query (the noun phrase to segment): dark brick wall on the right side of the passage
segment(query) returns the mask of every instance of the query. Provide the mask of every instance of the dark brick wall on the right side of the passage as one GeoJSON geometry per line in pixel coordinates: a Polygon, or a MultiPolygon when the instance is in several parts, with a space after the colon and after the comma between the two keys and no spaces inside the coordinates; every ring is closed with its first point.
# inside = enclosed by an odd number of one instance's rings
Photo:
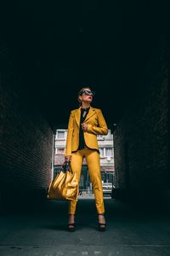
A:
{"type": "Polygon", "coordinates": [[[143,195],[170,189],[168,74],[167,48],[161,38],[137,81],[142,85],[139,96],[114,131],[119,189],[141,190],[143,195]]]}

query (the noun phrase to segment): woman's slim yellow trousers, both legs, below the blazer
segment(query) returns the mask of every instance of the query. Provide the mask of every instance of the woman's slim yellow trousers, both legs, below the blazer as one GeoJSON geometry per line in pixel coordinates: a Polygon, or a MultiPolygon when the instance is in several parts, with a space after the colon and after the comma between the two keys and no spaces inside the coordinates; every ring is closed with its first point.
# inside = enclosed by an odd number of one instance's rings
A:
{"type": "MultiPolygon", "coordinates": [[[[78,187],[80,183],[82,160],[86,158],[88,164],[88,172],[92,187],[94,190],[95,205],[98,213],[105,212],[103,189],[100,173],[99,153],[96,150],[83,148],[77,150],[77,152],[71,154],[71,169],[72,172],[77,173],[78,187]]],[[[78,193],[77,193],[78,195],[78,193]]],[[[77,207],[77,201],[69,201],[69,214],[75,214],[77,207]]]]}

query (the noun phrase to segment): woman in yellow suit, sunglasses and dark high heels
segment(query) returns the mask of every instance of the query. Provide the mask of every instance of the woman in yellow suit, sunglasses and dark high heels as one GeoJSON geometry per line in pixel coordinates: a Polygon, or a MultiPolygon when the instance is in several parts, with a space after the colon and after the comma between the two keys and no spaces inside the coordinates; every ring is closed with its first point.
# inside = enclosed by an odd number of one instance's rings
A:
{"type": "MultiPolygon", "coordinates": [[[[65,147],[65,161],[71,162],[72,172],[77,173],[80,182],[82,160],[88,164],[90,181],[94,190],[95,205],[99,215],[99,230],[105,230],[105,206],[103,199],[102,180],[99,163],[99,145],[97,135],[106,135],[108,128],[99,108],[90,106],[94,91],[89,87],[82,88],[78,93],[81,106],[71,111],[65,147]]],[[[69,201],[68,230],[75,230],[75,212],[77,201],[69,201]]]]}

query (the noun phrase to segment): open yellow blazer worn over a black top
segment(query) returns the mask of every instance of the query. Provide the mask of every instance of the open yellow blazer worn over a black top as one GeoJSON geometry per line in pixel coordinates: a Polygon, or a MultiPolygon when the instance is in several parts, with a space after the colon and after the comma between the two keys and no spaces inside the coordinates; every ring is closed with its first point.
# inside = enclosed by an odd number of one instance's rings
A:
{"type": "MultiPolygon", "coordinates": [[[[71,110],[68,132],[66,138],[65,155],[71,155],[72,151],[76,151],[79,145],[81,107],[71,110]]],[[[88,148],[99,150],[97,135],[106,135],[108,128],[104,116],[99,108],[90,106],[84,123],[88,124],[88,130],[84,131],[84,140],[88,148]]]]}

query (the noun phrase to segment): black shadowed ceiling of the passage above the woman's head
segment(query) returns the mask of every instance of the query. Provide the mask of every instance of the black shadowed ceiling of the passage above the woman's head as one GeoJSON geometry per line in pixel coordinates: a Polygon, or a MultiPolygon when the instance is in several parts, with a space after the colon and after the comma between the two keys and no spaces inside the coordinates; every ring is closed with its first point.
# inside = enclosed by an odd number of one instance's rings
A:
{"type": "Polygon", "coordinates": [[[93,106],[103,110],[108,123],[117,122],[142,90],[139,76],[161,35],[164,6],[150,1],[4,2],[1,38],[23,98],[36,102],[53,124],[65,124],[77,108],[77,91],[91,85],[93,106]]]}

